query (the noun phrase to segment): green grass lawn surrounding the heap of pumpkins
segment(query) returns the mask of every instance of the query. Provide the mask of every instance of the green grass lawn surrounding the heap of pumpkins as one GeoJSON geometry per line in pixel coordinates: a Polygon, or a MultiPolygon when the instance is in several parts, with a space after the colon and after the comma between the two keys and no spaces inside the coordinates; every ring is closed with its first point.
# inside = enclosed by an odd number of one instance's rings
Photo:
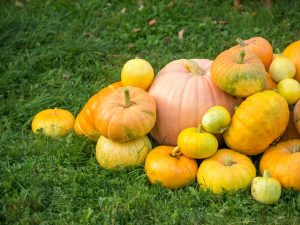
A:
{"type": "Polygon", "coordinates": [[[19,2],[0,2],[1,224],[300,224],[298,192],[265,206],[249,190],[213,195],[194,183],[170,191],[151,186],[142,166],[101,169],[83,137],[52,140],[30,127],[42,109],[76,115],[136,56],[157,72],[179,58],[213,59],[236,37],[263,36],[281,51],[300,39],[299,1],[270,10],[259,0],[239,9],[217,0],[19,2]]]}

